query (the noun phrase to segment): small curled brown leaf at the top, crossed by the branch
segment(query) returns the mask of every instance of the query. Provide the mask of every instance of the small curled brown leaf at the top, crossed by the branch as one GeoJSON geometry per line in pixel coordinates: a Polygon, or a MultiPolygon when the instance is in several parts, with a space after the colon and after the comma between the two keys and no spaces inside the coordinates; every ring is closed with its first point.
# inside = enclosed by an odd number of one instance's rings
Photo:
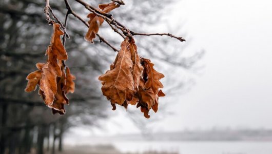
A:
{"type": "MultiPolygon", "coordinates": [[[[114,2],[112,2],[109,4],[101,4],[98,7],[100,11],[109,13],[111,10],[118,8],[119,6],[119,4],[115,4],[114,2]]],[[[94,13],[88,14],[87,17],[90,20],[88,21],[89,29],[85,35],[85,40],[93,43],[93,38],[95,38],[95,34],[98,33],[99,27],[104,22],[104,19],[102,17],[96,16],[94,13]]]]}

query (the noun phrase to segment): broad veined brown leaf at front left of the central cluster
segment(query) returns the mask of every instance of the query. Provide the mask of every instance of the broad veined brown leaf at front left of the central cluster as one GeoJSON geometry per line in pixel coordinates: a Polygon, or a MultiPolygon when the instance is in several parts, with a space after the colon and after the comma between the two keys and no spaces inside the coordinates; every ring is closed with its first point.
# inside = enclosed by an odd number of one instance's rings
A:
{"type": "Polygon", "coordinates": [[[99,76],[99,80],[103,84],[103,95],[110,100],[111,104],[123,105],[125,101],[130,101],[127,95],[133,95],[132,92],[134,91],[133,76],[131,74],[133,63],[129,51],[128,37],[122,42],[121,49],[116,56],[114,67],[99,76]]]}

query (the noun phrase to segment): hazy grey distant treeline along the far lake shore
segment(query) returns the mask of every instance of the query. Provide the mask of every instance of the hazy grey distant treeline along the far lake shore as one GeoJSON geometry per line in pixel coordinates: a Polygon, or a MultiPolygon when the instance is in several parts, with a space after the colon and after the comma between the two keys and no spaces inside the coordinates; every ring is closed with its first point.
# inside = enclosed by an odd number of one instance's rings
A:
{"type": "Polygon", "coordinates": [[[139,134],[126,134],[113,138],[118,140],[155,141],[272,141],[272,129],[186,130],[176,132],[156,132],[149,134],[148,138],[144,136],[139,137],[139,134]]]}

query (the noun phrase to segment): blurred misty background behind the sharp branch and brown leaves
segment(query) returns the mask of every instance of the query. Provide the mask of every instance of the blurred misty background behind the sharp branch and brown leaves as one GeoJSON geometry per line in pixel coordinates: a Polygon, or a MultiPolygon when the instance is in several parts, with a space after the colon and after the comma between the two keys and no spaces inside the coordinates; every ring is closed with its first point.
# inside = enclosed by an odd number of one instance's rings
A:
{"type": "MultiPolygon", "coordinates": [[[[89,13],[70,0],[86,21],[89,13]]],[[[86,1],[92,6],[110,1],[86,1]]],[[[45,62],[52,27],[43,0],[0,0],[0,153],[272,153],[272,1],[124,0],[114,18],[135,32],[138,52],[165,74],[166,97],[145,119],[130,105],[111,110],[98,76],[116,55],[69,16],[66,64],[76,76],[65,115],[52,115],[37,90],[24,92],[45,62]]],[[[63,1],[50,1],[64,22],[63,1]]],[[[122,37],[104,23],[116,48],[122,37]]]]}

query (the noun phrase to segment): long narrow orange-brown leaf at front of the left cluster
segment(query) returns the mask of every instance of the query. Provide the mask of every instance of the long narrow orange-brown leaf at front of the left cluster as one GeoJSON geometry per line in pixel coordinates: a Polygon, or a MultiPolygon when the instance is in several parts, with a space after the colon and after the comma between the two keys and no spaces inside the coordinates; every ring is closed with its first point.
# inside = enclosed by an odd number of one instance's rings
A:
{"type": "Polygon", "coordinates": [[[57,76],[61,77],[63,72],[58,64],[58,60],[67,60],[67,52],[62,44],[61,35],[63,31],[60,29],[59,24],[53,24],[54,33],[51,37],[51,44],[46,50],[48,54],[47,63],[42,69],[42,79],[40,81],[40,89],[45,95],[45,104],[47,106],[52,105],[54,101],[54,95],[57,91],[57,76]]]}

